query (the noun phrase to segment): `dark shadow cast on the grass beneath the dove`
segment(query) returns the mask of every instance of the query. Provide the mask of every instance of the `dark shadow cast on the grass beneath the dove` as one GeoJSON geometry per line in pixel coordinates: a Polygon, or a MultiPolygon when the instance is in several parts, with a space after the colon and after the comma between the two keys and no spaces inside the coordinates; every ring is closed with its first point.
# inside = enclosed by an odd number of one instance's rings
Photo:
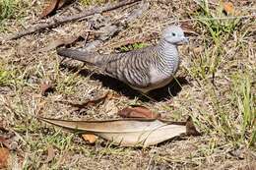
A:
{"type": "MultiPolygon", "coordinates": [[[[78,67],[69,66],[67,64],[62,63],[60,65],[62,68],[68,69],[70,72],[78,72],[78,67]]],[[[80,70],[79,74],[85,77],[90,76],[92,80],[98,80],[102,83],[103,86],[107,86],[112,90],[115,90],[119,93],[122,93],[123,95],[133,99],[135,97],[138,97],[142,101],[164,101],[166,99],[169,99],[172,96],[176,96],[178,92],[181,91],[182,85],[188,85],[189,83],[184,77],[178,77],[175,80],[171,81],[170,84],[165,85],[161,88],[154,89],[150,91],[147,94],[142,94],[141,92],[131,88],[129,85],[126,85],[114,78],[111,78],[109,76],[101,75],[101,74],[93,74],[89,70],[80,70]],[[147,96],[146,96],[147,95],[147,96]]]]}

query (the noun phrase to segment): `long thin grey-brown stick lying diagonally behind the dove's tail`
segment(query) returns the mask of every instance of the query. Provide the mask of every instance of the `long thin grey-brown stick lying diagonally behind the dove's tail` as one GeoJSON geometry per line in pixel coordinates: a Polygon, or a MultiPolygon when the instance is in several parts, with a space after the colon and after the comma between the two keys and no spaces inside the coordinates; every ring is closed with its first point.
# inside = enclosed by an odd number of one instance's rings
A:
{"type": "Polygon", "coordinates": [[[79,20],[79,19],[82,19],[82,18],[85,18],[85,17],[88,17],[88,16],[92,16],[92,15],[97,14],[97,13],[103,13],[103,12],[106,12],[106,11],[115,10],[115,9],[120,8],[122,6],[130,5],[130,4],[133,4],[135,2],[139,2],[139,1],[141,1],[141,0],[125,0],[125,1],[121,1],[119,3],[115,3],[115,4],[106,4],[102,7],[97,7],[97,8],[88,10],[86,12],[83,12],[83,13],[80,13],[80,14],[77,14],[77,15],[74,15],[74,16],[63,16],[63,17],[58,17],[58,18],[55,18],[55,19],[53,18],[53,20],[49,21],[48,23],[38,24],[38,25],[36,25],[32,28],[28,28],[24,31],[20,31],[20,32],[14,34],[14,35],[11,35],[10,37],[7,38],[7,40],[17,39],[17,38],[20,38],[24,35],[31,34],[35,31],[42,30],[44,28],[54,28],[54,27],[57,27],[57,26],[62,25],[64,23],[79,20]]]}

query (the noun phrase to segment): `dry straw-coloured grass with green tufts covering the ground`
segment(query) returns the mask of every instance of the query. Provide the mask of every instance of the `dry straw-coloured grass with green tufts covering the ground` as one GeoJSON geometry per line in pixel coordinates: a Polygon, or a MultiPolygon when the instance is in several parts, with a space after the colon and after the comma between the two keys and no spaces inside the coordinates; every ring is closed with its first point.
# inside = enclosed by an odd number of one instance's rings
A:
{"type": "MultiPolygon", "coordinates": [[[[6,9],[3,2],[7,0],[0,0],[0,8],[6,9]]],[[[8,15],[2,13],[0,37],[38,21],[43,2],[23,1],[26,5],[16,4],[8,9],[8,15]]],[[[237,15],[252,14],[255,3],[246,2],[234,2],[237,15]]],[[[81,74],[80,71],[87,68],[81,63],[65,61],[62,66],[54,50],[38,52],[60,36],[83,31],[87,22],[67,24],[1,44],[0,121],[16,134],[10,169],[15,166],[22,169],[256,167],[256,22],[255,18],[206,20],[224,17],[221,8],[218,3],[208,1],[201,4],[201,8],[195,1],[152,1],[151,8],[142,18],[99,48],[112,51],[113,44],[131,37],[156,37],[156,32],[160,32],[172,19],[198,19],[186,23],[198,35],[192,34],[189,45],[180,48],[182,64],[177,80],[185,76],[189,84],[179,84],[179,90],[174,91],[172,83],[168,97],[160,101],[142,100],[140,95],[127,96],[109,89],[91,75],[81,74]],[[41,96],[40,83],[45,80],[49,80],[55,90],[41,96]],[[106,90],[119,96],[79,111],[58,102],[84,101],[106,90]],[[76,135],[33,118],[41,115],[74,120],[110,119],[117,117],[118,109],[136,103],[160,112],[166,119],[185,120],[190,115],[204,135],[164,142],[146,149],[119,147],[101,140],[91,145],[76,135]],[[53,146],[55,156],[46,161],[49,145],[53,146]]],[[[126,10],[109,15],[118,18],[126,10]]],[[[152,40],[145,43],[157,41],[152,40]]]]}

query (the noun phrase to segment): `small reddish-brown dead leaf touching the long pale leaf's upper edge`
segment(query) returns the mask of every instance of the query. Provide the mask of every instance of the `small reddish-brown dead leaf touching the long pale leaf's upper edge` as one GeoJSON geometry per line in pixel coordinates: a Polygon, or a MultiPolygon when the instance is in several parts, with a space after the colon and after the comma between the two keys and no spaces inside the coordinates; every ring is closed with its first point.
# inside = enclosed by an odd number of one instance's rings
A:
{"type": "Polygon", "coordinates": [[[123,118],[160,118],[159,113],[154,113],[150,109],[144,106],[126,107],[117,113],[123,118]]]}

